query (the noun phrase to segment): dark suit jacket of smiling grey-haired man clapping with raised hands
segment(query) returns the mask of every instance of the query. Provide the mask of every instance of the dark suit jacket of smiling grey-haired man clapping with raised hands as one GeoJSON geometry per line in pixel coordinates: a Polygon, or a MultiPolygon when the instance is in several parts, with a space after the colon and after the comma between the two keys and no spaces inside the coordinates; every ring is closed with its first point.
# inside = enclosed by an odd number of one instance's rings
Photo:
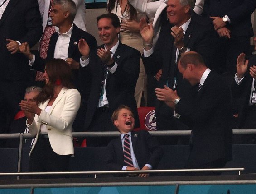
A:
{"type": "MultiPolygon", "coordinates": [[[[174,47],[174,38],[170,34],[170,29],[173,25],[169,23],[166,18],[166,9],[161,14],[161,30],[158,41],[155,45],[154,52],[149,57],[142,55],[142,60],[145,66],[147,74],[154,76],[159,69],[162,69],[161,79],[159,81],[159,88],[164,88],[167,80],[169,80],[169,87],[171,88],[174,83],[174,76],[177,79],[177,92],[179,97],[186,96],[186,92],[190,88],[190,84],[184,81],[182,75],[177,69],[175,64],[176,47],[174,47]]],[[[207,19],[193,14],[191,22],[188,25],[187,31],[184,35],[184,44],[191,51],[196,51],[203,56],[203,59],[209,67],[212,66],[213,55],[215,48],[213,48],[214,37],[213,24],[207,19]]],[[[166,115],[172,115],[172,110],[169,107],[165,107],[164,102],[159,102],[156,106],[156,116],[159,111],[166,112],[166,115]],[[169,111],[167,111],[169,110],[169,111]]],[[[167,117],[167,116],[166,116],[167,117]]],[[[171,128],[171,126],[169,127],[171,128]]]]}

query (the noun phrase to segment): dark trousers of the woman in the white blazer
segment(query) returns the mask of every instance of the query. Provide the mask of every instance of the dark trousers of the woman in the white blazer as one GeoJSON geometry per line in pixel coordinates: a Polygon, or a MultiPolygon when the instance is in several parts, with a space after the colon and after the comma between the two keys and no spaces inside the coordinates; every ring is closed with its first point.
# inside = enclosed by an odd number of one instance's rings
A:
{"type": "MultiPolygon", "coordinates": [[[[49,139],[39,138],[29,158],[29,172],[68,171],[70,156],[53,152],[49,139]]],[[[30,178],[68,178],[68,176],[49,175],[30,178]]]]}

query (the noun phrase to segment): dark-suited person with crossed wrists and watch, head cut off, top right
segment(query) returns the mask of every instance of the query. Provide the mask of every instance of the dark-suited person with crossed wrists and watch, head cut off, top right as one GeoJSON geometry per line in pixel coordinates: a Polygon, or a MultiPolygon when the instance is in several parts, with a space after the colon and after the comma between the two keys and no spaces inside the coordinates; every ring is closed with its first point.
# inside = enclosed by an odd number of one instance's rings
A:
{"type": "Polygon", "coordinates": [[[213,19],[214,29],[219,35],[219,68],[229,72],[231,77],[236,72],[237,56],[250,53],[250,37],[253,36],[251,14],[256,7],[255,0],[205,0],[203,15],[213,19]]]}

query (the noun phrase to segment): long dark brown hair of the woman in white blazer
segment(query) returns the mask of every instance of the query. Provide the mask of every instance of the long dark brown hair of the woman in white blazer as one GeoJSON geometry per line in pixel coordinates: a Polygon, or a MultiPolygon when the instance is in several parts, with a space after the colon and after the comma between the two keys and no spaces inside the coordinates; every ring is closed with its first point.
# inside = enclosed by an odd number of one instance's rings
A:
{"type": "Polygon", "coordinates": [[[45,71],[48,74],[49,82],[43,88],[43,92],[39,93],[36,97],[35,100],[37,102],[45,102],[47,99],[53,97],[57,80],[59,80],[65,88],[74,88],[72,84],[72,69],[65,60],[48,60],[45,65],[45,71]]]}

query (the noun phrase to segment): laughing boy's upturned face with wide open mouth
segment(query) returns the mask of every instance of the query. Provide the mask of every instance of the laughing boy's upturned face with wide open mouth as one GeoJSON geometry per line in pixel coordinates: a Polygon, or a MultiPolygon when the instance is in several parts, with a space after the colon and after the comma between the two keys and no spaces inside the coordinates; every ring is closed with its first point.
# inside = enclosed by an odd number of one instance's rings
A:
{"type": "Polygon", "coordinates": [[[127,134],[134,128],[135,120],[131,111],[123,108],[119,111],[117,120],[114,120],[114,125],[121,134],[127,134]]]}

